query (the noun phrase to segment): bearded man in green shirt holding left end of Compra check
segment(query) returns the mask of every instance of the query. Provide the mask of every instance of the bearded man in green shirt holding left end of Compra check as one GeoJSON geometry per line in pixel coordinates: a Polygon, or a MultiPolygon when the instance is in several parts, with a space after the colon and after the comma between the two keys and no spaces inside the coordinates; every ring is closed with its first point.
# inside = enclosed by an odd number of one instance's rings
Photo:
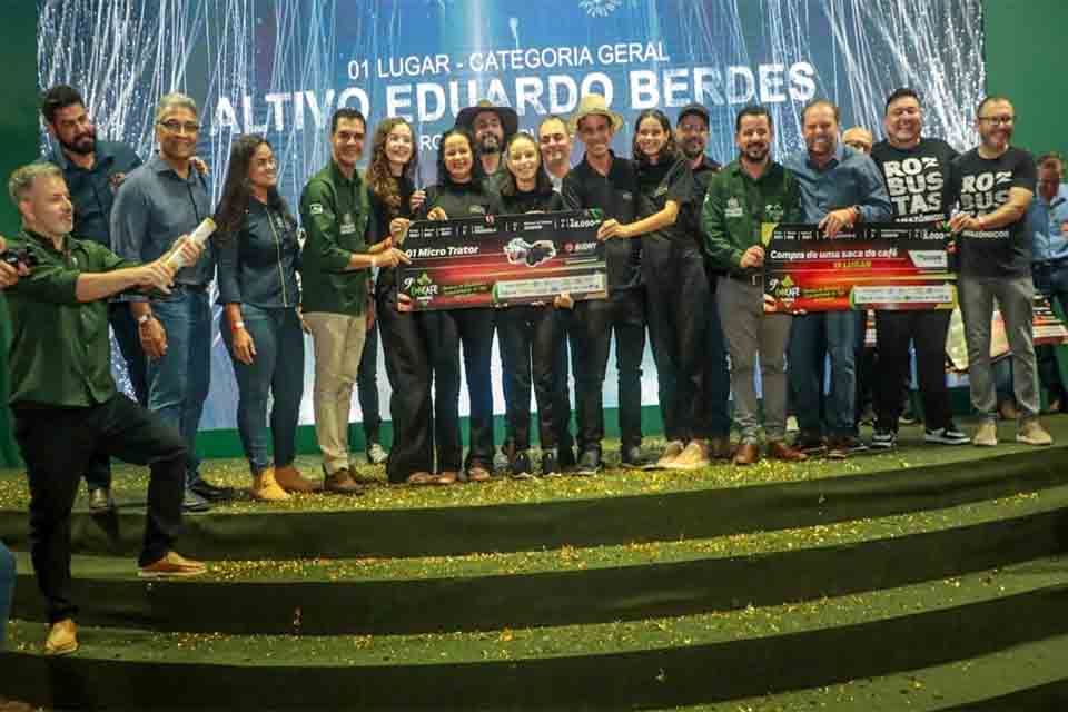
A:
{"type": "Polygon", "coordinates": [[[789,314],[764,314],[764,248],[761,222],[798,222],[798,181],[771,160],[771,115],[763,107],[742,109],[734,126],[738,160],[716,174],[705,195],[702,226],[708,253],[726,270],[719,277],[716,306],[731,355],[734,418],[741,441],[734,464],[760,459],[753,369],[760,352],[764,436],[768,455],[797,462],[805,456],[785,443],[785,353],[793,320],[789,314]]]}

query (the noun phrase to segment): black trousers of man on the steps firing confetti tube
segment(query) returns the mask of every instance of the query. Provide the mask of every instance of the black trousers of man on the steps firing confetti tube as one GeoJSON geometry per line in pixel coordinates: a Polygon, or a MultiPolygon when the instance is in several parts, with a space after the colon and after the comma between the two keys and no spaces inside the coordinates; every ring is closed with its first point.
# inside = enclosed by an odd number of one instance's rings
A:
{"type": "Polygon", "coordinates": [[[138,563],[158,561],[181,525],[186,445],[176,429],[125,395],[87,408],[17,407],[14,437],[30,483],[30,556],[55,623],[78,612],[70,597],[70,512],[97,456],[148,465],[148,516],[138,563]]]}

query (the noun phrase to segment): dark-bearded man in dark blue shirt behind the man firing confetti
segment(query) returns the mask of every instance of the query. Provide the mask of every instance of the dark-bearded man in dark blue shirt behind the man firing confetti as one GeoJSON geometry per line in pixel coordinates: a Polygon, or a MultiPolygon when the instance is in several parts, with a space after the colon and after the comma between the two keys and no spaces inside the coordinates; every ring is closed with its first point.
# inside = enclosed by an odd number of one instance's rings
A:
{"type": "MultiPolygon", "coordinates": [[[[141,165],[141,159],[126,144],[97,140],[97,127],[86,111],[81,95],[73,87],[57,85],[41,98],[41,116],[59,150],[48,160],[59,166],[75,206],[75,234],[82,239],[111,245],[111,205],[127,174],[141,165]]],[[[119,344],[126,372],[137,402],[148,403],[145,385],[145,353],[137,338],[137,323],[129,307],[121,301],[108,306],[108,323],[119,344]]],[[[98,456],[86,469],[89,508],[107,512],[115,506],[111,498],[111,464],[98,456]]]]}

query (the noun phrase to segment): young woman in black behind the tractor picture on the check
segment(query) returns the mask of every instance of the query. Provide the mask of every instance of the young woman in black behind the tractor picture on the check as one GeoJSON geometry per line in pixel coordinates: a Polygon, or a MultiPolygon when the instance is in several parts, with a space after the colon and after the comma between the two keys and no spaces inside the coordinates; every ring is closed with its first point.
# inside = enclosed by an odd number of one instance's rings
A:
{"type": "MultiPolygon", "coordinates": [[[[515,134],[504,151],[507,176],[501,184],[506,215],[551,212],[564,209],[564,201],[542,170],[537,141],[530,134],[515,134]]],[[[557,304],[562,300],[557,297],[557,304]]],[[[563,299],[570,304],[568,299],[563,299]]],[[[527,449],[531,447],[531,383],[537,400],[537,433],[542,448],[542,475],[557,474],[556,414],[554,404],[554,363],[563,332],[552,305],[515,306],[497,313],[497,336],[504,367],[508,436],[515,455],[508,463],[513,476],[533,474],[527,449]]]]}

